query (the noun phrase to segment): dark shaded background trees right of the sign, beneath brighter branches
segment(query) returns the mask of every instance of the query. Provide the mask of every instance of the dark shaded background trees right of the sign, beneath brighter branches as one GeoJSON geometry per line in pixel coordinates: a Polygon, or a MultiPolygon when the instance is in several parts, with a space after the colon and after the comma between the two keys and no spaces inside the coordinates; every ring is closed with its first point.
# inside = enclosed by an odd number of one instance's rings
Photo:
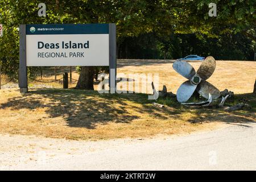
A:
{"type": "Polygon", "coordinates": [[[126,38],[118,52],[121,59],[179,59],[195,54],[211,55],[218,60],[253,60],[254,43],[241,33],[218,38],[195,34],[143,34],[138,38],[126,38]]]}

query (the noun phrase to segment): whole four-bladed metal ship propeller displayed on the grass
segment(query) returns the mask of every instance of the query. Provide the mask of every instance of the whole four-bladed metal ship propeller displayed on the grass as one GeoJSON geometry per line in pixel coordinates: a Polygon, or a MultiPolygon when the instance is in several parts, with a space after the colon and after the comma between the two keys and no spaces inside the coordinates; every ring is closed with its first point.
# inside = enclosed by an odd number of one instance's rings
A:
{"type": "Polygon", "coordinates": [[[186,61],[175,61],[172,67],[177,73],[188,79],[177,90],[177,101],[180,103],[187,102],[195,91],[207,99],[209,99],[209,96],[213,100],[220,97],[220,90],[206,81],[212,76],[216,68],[216,61],[212,56],[207,57],[203,61],[197,72],[186,61]]]}

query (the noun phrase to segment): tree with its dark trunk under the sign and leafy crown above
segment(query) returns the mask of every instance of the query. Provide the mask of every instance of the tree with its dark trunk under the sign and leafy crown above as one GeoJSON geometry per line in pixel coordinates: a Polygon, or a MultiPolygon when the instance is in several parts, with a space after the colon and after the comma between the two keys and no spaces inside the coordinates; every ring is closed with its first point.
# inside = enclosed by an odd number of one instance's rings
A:
{"type": "MultiPolygon", "coordinates": [[[[161,27],[161,21],[166,19],[164,14],[165,1],[88,1],[85,10],[90,12],[86,16],[88,23],[117,24],[117,52],[119,46],[129,36],[138,36],[145,32],[152,32],[161,27]]],[[[82,7],[81,7],[82,8],[82,7]]],[[[171,22],[171,18],[168,20],[171,22]]],[[[163,30],[163,29],[162,29],[163,30]]],[[[127,45],[127,44],[126,44],[127,45]]],[[[91,68],[81,68],[77,89],[93,89],[91,68]],[[86,79],[85,79],[86,77],[86,79]]]]}

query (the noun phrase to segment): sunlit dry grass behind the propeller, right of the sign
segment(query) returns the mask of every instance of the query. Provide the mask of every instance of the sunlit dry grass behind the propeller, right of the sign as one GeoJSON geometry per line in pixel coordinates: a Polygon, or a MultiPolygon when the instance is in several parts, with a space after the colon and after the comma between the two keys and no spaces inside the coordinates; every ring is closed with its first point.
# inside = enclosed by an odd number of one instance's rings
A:
{"type": "MultiPolygon", "coordinates": [[[[140,60],[138,60],[140,61],[140,60]]],[[[172,69],[173,60],[151,60],[131,62],[130,60],[119,61],[118,73],[158,73],[159,89],[163,85],[168,91],[176,93],[179,86],[186,78],[172,69]],[[137,64],[137,65],[136,65],[137,64]],[[128,66],[123,66],[128,65],[128,66]]],[[[197,70],[201,62],[190,62],[197,70]]],[[[220,90],[232,90],[236,94],[252,93],[256,78],[256,61],[217,61],[216,70],[208,81],[220,90]]],[[[148,88],[151,88],[149,83],[148,88]]],[[[151,92],[151,89],[148,90],[151,92]]]]}

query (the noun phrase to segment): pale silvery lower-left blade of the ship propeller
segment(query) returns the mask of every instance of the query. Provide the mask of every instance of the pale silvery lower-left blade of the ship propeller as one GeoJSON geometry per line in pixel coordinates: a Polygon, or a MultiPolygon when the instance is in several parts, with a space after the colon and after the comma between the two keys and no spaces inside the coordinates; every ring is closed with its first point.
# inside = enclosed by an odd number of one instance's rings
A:
{"type": "Polygon", "coordinates": [[[179,101],[180,103],[187,102],[192,94],[195,92],[196,86],[197,85],[191,84],[189,80],[181,84],[176,94],[177,101],[179,101]]]}

